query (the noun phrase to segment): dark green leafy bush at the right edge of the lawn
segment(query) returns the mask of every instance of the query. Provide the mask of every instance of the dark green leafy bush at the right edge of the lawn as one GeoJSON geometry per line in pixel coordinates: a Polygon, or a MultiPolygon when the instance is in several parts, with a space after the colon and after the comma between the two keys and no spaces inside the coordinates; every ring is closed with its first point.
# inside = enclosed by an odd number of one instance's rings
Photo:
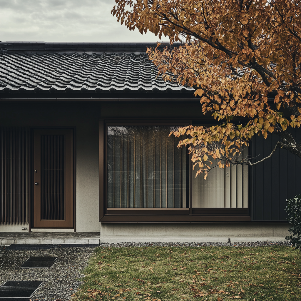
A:
{"type": "Polygon", "coordinates": [[[287,200],[285,210],[290,223],[288,231],[293,234],[285,237],[285,239],[290,240],[293,247],[301,249],[301,194],[296,195],[291,200],[287,200]]]}

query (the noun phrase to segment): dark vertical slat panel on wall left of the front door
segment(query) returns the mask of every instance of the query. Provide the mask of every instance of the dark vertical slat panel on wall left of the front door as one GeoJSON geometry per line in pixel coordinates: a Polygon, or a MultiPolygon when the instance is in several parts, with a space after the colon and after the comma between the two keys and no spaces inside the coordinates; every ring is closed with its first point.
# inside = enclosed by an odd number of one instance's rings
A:
{"type": "Polygon", "coordinates": [[[29,215],[29,129],[0,128],[0,217],[24,224],[29,215]]]}

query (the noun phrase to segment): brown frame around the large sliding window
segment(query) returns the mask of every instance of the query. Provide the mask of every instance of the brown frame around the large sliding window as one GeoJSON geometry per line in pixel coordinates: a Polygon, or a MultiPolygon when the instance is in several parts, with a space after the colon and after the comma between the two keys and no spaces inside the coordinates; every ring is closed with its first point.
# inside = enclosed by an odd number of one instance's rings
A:
{"type": "Polygon", "coordinates": [[[99,221],[100,222],[247,222],[249,208],[192,208],[192,162],[189,165],[189,208],[107,209],[107,126],[188,126],[189,119],[99,120],[99,221]]]}

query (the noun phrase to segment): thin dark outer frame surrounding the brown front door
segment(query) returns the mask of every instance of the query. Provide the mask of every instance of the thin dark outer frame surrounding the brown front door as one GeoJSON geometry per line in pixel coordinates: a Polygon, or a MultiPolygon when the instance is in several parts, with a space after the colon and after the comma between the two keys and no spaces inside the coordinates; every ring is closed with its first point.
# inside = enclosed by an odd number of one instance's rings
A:
{"type": "MultiPolygon", "coordinates": [[[[30,172],[29,172],[29,177],[30,177],[30,184],[29,184],[29,228],[28,231],[31,232],[31,229],[74,229],[74,232],[76,232],[76,126],[32,126],[30,127],[30,158],[29,158],[29,166],[30,166],[30,172]],[[71,204],[73,206],[73,227],[65,227],[65,228],[56,228],[56,227],[33,227],[33,188],[34,188],[34,170],[33,170],[33,149],[34,149],[34,130],[36,129],[71,129],[73,130],[73,145],[72,151],[73,151],[73,162],[71,163],[73,166],[73,199],[71,200],[71,204]]],[[[55,230],[54,230],[55,232],[55,230]]]]}

